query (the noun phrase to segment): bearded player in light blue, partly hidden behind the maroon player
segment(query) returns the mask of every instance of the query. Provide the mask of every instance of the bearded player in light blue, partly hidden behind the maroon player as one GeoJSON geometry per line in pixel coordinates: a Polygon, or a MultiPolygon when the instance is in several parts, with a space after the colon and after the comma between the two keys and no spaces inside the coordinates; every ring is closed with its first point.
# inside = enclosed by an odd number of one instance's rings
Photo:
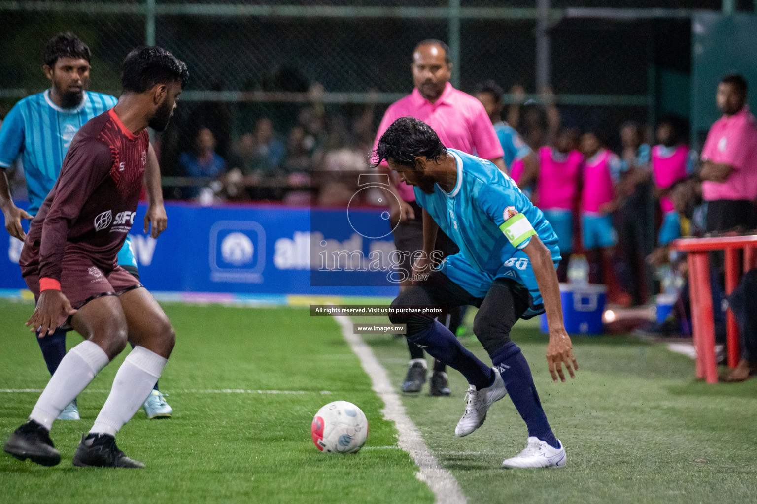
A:
{"type": "MultiPolygon", "coordinates": [[[[18,240],[26,239],[21,220],[36,215],[58,180],[63,159],[76,132],[89,119],[110,110],[117,103],[117,99],[108,94],[87,91],[90,54],[89,47],[70,32],[53,37],[42,51],[43,70],[50,79],[50,88],[19,100],[0,127],[0,208],[5,215],[5,228],[18,240]],[[17,159],[20,159],[26,175],[28,211],[14,205],[5,174],[5,169],[11,168],[17,159]]],[[[160,168],[152,149],[145,173],[151,174],[146,177],[149,178],[147,188],[151,205],[145,219],[145,232],[148,221],[151,221],[151,235],[155,238],[165,229],[167,218],[160,189],[160,168]]],[[[139,278],[130,239],[119,252],[118,264],[139,278]]],[[[52,335],[37,338],[37,341],[48,371],[55,373],[66,354],[66,333],[58,329],[52,335]]],[[[167,418],[172,413],[163,394],[158,391],[157,383],[144,406],[149,418],[167,418]]],[[[76,400],[59,418],[79,419],[76,400]]]]}

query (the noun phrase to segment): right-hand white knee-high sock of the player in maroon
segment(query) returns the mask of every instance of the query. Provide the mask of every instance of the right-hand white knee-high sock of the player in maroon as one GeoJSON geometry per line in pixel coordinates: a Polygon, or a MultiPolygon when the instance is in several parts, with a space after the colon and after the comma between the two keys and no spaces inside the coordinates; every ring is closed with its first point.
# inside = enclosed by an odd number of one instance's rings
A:
{"type": "Polygon", "coordinates": [[[152,388],[163,372],[167,359],[145,347],[134,349],[123,360],[116,378],[113,380],[111,394],[107,396],[91,434],[116,435],[123,424],[129,422],[142,403],[145,402],[152,388]]]}

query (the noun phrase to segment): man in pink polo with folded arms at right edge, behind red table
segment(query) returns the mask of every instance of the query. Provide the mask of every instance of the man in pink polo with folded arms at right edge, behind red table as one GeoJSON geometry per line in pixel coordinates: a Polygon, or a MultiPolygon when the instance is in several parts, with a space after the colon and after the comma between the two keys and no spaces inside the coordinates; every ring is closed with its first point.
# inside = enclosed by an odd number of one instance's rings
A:
{"type": "Polygon", "coordinates": [[[727,76],[718,84],[718,109],[702,149],[702,197],[707,231],[757,227],[757,125],[746,105],[746,80],[727,76]]]}

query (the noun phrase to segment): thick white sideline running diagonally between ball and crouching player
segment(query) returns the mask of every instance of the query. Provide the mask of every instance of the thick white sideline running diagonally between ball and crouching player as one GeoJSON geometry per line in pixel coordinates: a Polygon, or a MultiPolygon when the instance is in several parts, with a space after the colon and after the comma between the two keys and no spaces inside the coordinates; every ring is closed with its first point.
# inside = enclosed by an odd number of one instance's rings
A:
{"type": "Polygon", "coordinates": [[[341,333],[344,335],[344,339],[350,344],[352,351],[360,359],[363,369],[370,376],[373,391],[384,401],[386,405],[384,410],[382,410],[384,418],[397,425],[397,431],[400,433],[397,444],[409,453],[410,457],[418,465],[418,479],[428,484],[428,487],[434,492],[438,504],[468,502],[455,477],[447,469],[439,465],[439,461],[423,442],[418,428],[405,414],[405,407],[403,407],[400,401],[400,396],[397,395],[397,392],[391,386],[386,369],[378,363],[378,359],[376,359],[373,351],[363,342],[360,335],[352,333],[353,326],[350,317],[334,318],[339,326],[341,326],[341,333]]]}

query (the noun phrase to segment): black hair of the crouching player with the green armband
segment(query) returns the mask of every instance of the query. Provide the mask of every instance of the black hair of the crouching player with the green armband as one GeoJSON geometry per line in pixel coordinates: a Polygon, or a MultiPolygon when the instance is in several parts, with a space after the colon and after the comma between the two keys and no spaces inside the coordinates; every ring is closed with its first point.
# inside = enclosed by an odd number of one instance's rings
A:
{"type": "Polygon", "coordinates": [[[397,165],[416,165],[416,157],[425,156],[429,161],[437,161],[447,154],[447,147],[439,140],[431,126],[415,117],[400,117],[391,123],[378,140],[373,152],[374,166],[384,159],[391,159],[397,165]]]}

